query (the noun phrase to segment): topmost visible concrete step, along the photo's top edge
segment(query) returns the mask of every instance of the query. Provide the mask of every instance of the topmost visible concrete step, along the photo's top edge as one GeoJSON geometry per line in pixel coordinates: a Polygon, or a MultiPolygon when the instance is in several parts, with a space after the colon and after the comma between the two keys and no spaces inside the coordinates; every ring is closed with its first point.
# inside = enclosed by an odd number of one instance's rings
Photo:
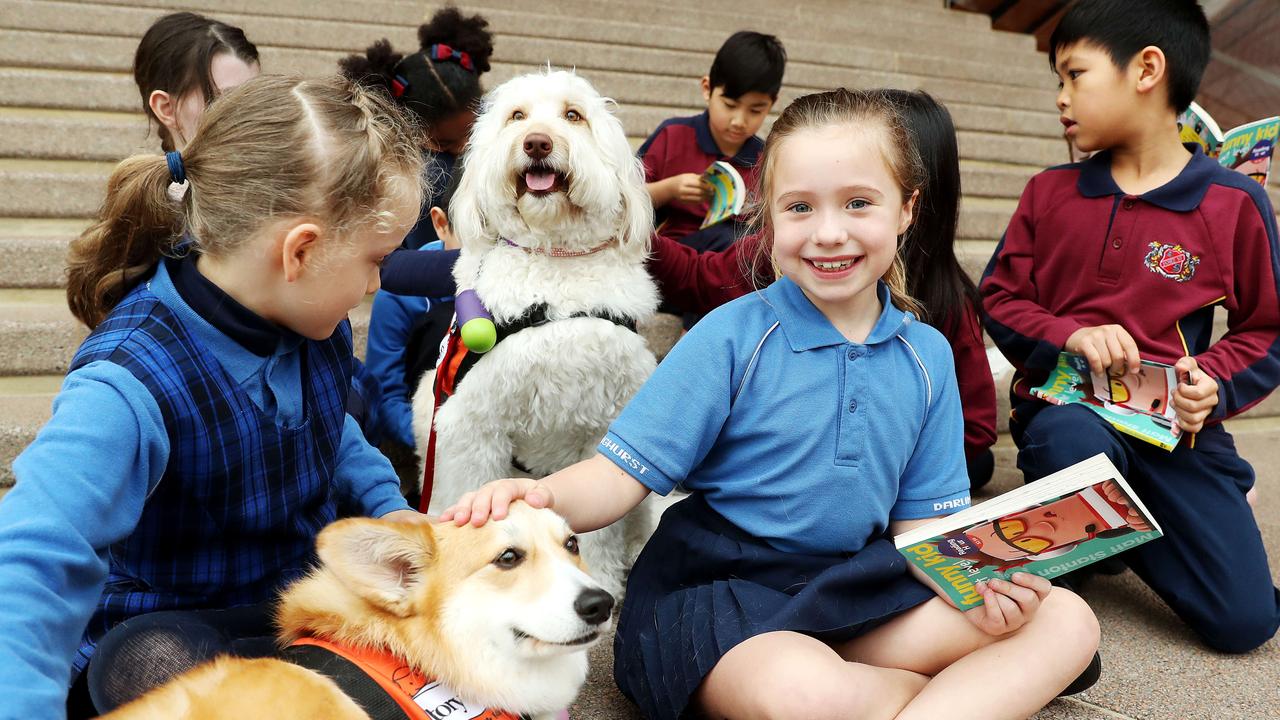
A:
{"type": "MultiPolygon", "coordinates": [[[[118,5],[81,4],[42,0],[6,0],[20,6],[20,15],[4,23],[20,29],[59,28],[67,32],[90,35],[120,35],[138,37],[146,27],[170,8],[120,8],[118,5]],[[73,5],[74,10],[68,10],[73,5]],[[68,19],[67,15],[74,14],[68,19]]],[[[134,5],[134,4],[129,4],[134,5]]],[[[151,4],[145,4],[151,5],[151,4]]],[[[325,47],[349,49],[352,38],[369,37],[375,40],[385,36],[397,46],[415,44],[412,23],[376,22],[374,18],[425,17],[419,13],[434,12],[434,8],[415,6],[410,15],[402,12],[380,14],[366,5],[360,8],[339,6],[335,17],[316,18],[314,8],[300,8],[291,12],[279,4],[270,9],[257,5],[247,12],[216,12],[210,5],[201,4],[201,12],[214,13],[219,19],[242,27],[248,37],[261,46],[325,47]],[[297,22],[294,12],[303,13],[306,20],[297,22]]],[[[488,4],[485,4],[488,5],[488,4]]],[[[675,4],[600,4],[582,0],[556,3],[554,8],[539,8],[530,12],[527,4],[512,3],[506,8],[466,8],[480,12],[497,32],[499,53],[506,36],[554,37],[562,40],[591,38],[599,42],[643,45],[671,50],[698,50],[714,53],[727,35],[709,32],[710,28],[740,27],[742,14],[708,12],[699,8],[689,12],[675,4]],[[602,10],[604,12],[602,14],[602,10]],[[662,33],[649,29],[649,19],[660,15],[666,27],[662,33]],[[659,37],[660,36],[660,37],[659,37]]],[[[797,61],[815,61],[822,58],[820,45],[854,46],[870,51],[901,53],[904,47],[927,56],[964,58],[964,61],[978,59],[1015,68],[1014,76],[1004,82],[1016,82],[1039,86],[1044,82],[1041,68],[1028,67],[1028,58],[1034,56],[1034,44],[1028,38],[1001,32],[982,32],[977,27],[956,27],[956,18],[948,13],[913,13],[902,6],[863,5],[856,13],[832,12],[831,8],[794,8],[791,12],[753,12],[750,17],[758,27],[783,28],[778,32],[787,45],[788,55],[797,61]],[[855,15],[856,17],[852,17],[855,15]],[[879,15],[879,17],[877,17],[879,15]],[[922,23],[913,15],[933,18],[934,23],[922,23]],[[963,40],[957,40],[963,38],[963,40]]],[[[966,24],[972,20],[966,20],[966,24]]],[[[357,40],[360,42],[360,40],[357,40]]],[[[364,41],[367,44],[369,41],[364,41]]],[[[705,73],[705,68],[703,70],[705,73]]],[[[950,73],[948,73],[950,74],[950,73]]]]}

